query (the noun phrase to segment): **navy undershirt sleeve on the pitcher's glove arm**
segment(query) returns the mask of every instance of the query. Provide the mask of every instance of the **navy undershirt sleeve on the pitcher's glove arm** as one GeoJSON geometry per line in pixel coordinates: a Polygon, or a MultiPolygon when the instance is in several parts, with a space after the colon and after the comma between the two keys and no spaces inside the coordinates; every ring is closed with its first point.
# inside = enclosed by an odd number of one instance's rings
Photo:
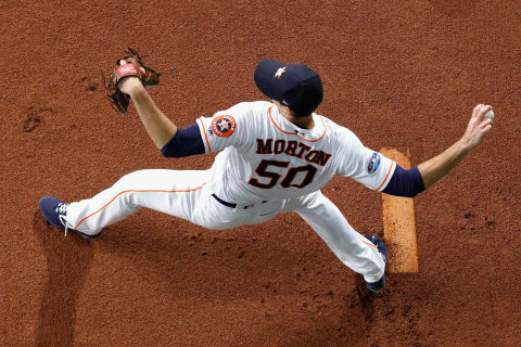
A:
{"type": "Polygon", "coordinates": [[[176,134],[161,149],[166,157],[180,158],[195,154],[204,154],[203,138],[199,131],[199,126],[192,124],[185,129],[177,129],[176,134]]]}

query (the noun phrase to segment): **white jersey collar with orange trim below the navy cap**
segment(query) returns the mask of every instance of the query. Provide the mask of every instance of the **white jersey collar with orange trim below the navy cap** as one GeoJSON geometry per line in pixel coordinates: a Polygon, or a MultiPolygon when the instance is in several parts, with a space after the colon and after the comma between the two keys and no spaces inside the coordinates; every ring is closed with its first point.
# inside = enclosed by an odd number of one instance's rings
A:
{"type": "Polygon", "coordinates": [[[289,136],[294,136],[306,142],[320,141],[326,136],[327,131],[323,118],[316,113],[313,114],[313,120],[315,121],[315,126],[313,127],[313,129],[302,129],[295,126],[294,124],[285,119],[275,105],[269,107],[269,119],[280,132],[289,136]]]}

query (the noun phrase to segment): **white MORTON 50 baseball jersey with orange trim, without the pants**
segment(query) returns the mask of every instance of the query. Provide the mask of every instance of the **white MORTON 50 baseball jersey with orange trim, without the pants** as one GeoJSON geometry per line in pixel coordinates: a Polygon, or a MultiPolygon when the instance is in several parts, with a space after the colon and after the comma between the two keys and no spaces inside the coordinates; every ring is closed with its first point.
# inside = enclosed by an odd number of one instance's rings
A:
{"type": "Polygon", "coordinates": [[[320,190],[336,175],[385,189],[395,169],[391,159],[332,120],[313,118],[313,129],[298,128],[264,101],[199,118],[206,153],[223,151],[208,182],[215,194],[233,203],[292,198],[320,190]]]}

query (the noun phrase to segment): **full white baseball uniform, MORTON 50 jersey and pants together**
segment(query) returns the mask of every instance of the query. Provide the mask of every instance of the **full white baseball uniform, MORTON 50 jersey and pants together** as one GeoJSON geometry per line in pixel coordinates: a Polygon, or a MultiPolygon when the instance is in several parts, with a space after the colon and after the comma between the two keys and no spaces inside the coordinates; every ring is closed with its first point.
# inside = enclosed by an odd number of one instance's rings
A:
{"type": "Polygon", "coordinates": [[[323,116],[313,117],[314,128],[301,129],[276,105],[262,101],[201,117],[206,153],[221,151],[209,170],[128,174],[93,197],[71,203],[66,220],[75,230],[97,234],[148,207],[224,230],[295,211],[343,264],[367,282],[377,282],[385,270],[377,247],[350,226],[320,189],[342,175],[381,191],[396,165],[365,147],[348,129],[323,116]]]}

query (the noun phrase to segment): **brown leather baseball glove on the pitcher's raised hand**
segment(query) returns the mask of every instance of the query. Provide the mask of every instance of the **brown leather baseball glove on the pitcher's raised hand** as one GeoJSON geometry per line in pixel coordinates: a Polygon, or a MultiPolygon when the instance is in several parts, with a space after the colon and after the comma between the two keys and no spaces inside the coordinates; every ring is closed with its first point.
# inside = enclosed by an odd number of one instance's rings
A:
{"type": "Polygon", "coordinates": [[[101,72],[103,86],[107,90],[107,98],[115,111],[127,114],[130,95],[123,93],[117,87],[119,82],[130,76],[136,76],[141,80],[144,87],[153,87],[160,83],[161,74],[147,65],[139,56],[138,51],[128,48],[126,55],[116,61],[117,67],[112,73],[110,79],[105,78],[105,74],[101,72]],[[125,60],[127,64],[119,65],[120,60],[125,60]]]}

